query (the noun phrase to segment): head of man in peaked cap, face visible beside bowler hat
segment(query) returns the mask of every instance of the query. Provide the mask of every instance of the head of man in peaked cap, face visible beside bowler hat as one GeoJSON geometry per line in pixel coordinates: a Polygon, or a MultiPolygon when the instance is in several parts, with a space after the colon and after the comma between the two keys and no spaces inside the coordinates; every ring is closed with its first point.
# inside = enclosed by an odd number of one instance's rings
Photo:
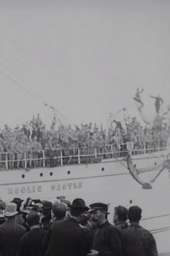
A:
{"type": "Polygon", "coordinates": [[[108,205],[103,203],[90,204],[89,214],[91,221],[97,225],[102,224],[108,215],[108,205]]]}

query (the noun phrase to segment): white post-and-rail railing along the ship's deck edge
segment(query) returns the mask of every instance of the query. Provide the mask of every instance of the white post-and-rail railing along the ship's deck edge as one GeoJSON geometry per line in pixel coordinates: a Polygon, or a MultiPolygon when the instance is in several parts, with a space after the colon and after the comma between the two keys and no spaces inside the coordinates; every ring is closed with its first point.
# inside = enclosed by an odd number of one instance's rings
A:
{"type": "MultiPolygon", "coordinates": [[[[152,153],[166,149],[165,142],[134,145],[132,155],[152,153]]],[[[103,159],[125,157],[127,145],[102,145],[82,148],[58,148],[55,150],[28,151],[0,154],[0,170],[57,167],[71,164],[99,163],[103,159]]]]}

